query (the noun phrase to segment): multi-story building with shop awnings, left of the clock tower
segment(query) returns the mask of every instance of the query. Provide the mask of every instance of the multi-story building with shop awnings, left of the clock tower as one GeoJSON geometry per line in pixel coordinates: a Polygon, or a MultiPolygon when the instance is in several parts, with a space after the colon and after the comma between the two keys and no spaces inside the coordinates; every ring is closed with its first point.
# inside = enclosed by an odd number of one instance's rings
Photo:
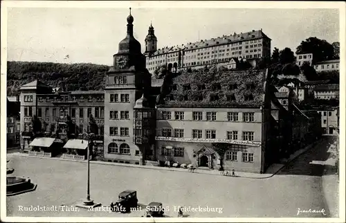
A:
{"type": "Polygon", "coordinates": [[[104,130],[104,92],[103,91],[56,91],[35,80],[21,88],[21,148],[29,150],[32,141],[32,119],[39,118],[42,132],[54,134],[60,128],[60,138],[66,139],[67,116],[75,125],[76,137],[89,132],[89,116],[98,124],[98,135],[95,136],[95,147],[103,154],[104,130]]]}

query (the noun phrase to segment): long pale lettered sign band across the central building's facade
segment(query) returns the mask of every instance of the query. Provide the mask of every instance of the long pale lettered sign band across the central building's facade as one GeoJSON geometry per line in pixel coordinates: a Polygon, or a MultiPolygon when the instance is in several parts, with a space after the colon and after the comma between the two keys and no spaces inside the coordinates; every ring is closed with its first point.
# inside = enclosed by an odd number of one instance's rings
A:
{"type": "Polygon", "coordinates": [[[184,142],[184,143],[231,143],[231,144],[236,144],[236,145],[250,145],[250,146],[260,146],[261,145],[261,142],[230,140],[230,139],[186,139],[186,138],[155,136],[155,140],[157,140],[157,141],[176,141],[176,142],[184,142]]]}

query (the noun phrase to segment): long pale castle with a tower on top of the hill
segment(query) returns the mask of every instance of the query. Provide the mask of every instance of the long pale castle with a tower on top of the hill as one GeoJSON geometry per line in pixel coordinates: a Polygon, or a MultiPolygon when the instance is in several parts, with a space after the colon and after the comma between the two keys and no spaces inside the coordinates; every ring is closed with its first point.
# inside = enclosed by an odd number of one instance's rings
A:
{"type": "Polygon", "coordinates": [[[150,73],[160,66],[174,70],[199,69],[211,64],[227,66],[232,57],[255,65],[253,60],[271,55],[271,39],[262,29],[157,49],[154,27],[150,25],[145,46],[146,65],[150,73]]]}

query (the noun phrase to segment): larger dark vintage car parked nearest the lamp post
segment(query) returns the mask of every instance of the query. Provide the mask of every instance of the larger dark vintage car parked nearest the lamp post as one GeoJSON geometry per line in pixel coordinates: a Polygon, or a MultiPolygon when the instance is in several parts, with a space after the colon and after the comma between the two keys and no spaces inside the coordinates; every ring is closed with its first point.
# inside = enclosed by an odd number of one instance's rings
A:
{"type": "MultiPolygon", "coordinates": [[[[113,203],[112,203],[113,204],[113,203]]],[[[130,208],[138,206],[137,191],[136,190],[124,190],[119,194],[118,201],[113,205],[113,211],[125,213],[130,208]]]]}

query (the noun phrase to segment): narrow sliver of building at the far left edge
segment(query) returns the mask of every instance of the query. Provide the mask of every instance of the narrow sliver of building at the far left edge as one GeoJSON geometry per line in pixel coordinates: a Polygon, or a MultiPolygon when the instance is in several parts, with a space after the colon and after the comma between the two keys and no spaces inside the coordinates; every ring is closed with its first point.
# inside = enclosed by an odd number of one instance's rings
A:
{"type": "Polygon", "coordinates": [[[20,102],[18,97],[7,98],[7,147],[19,145],[20,102]],[[10,100],[9,100],[10,99],[10,100]]]}

